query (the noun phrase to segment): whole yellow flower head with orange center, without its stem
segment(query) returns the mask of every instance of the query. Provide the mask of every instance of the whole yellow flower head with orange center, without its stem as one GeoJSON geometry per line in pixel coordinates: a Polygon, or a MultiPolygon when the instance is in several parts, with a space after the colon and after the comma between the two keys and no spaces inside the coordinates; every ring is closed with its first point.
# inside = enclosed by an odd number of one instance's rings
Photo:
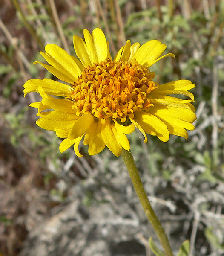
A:
{"type": "Polygon", "coordinates": [[[79,60],[59,46],[47,44],[46,52],[40,54],[50,65],[34,62],[66,84],[51,79],[31,79],[24,84],[24,96],[37,91],[42,96],[41,102],[30,106],[38,108],[38,126],[64,139],[61,152],[74,145],[75,154],[81,157],[78,146],[84,137],[90,155],[98,154],[106,145],[119,156],[122,148],[130,149],[125,134],[135,128],[142,132],[145,143],[146,133],[164,142],[169,134],[187,139],[185,129],[195,128],[195,108],[189,103],[194,96],[188,91],[195,85],[188,80],[159,85],[149,70],[161,58],[175,57],[172,53],[160,57],[166,45],[158,40],[131,45],[128,40],[112,60],[101,29],[94,29],[92,34],[84,29],[84,38],[73,38],[79,60]],[[174,94],[190,99],[169,96],[174,94]]]}

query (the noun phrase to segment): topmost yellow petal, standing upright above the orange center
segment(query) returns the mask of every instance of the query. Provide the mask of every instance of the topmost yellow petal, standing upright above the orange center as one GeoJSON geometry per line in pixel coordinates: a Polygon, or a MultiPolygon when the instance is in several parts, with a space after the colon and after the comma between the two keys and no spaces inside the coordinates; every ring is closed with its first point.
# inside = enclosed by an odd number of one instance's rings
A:
{"type": "Polygon", "coordinates": [[[96,28],[92,31],[93,44],[98,57],[98,62],[105,61],[108,55],[106,38],[103,31],[96,28]]]}

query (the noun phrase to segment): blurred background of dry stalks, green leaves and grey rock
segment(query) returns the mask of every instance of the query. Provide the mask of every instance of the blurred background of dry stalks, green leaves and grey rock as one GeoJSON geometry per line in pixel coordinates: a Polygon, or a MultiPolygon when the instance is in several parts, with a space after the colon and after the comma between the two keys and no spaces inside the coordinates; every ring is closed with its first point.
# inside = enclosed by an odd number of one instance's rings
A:
{"type": "Polygon", "coordinates": [[[128,135],[146,192],[175,255],[224,255],[224,1],[0,0],[0,256],[152,256],[155,233],[121,157],[108,149],[60,153],[60,139],[35,124],[28,79],[53,43],[75,55],[72,36],[100,27],[111,54],[130,39],[167,45],[155,81],[189,79],[196,129],[163,143],[128,135]]]}

